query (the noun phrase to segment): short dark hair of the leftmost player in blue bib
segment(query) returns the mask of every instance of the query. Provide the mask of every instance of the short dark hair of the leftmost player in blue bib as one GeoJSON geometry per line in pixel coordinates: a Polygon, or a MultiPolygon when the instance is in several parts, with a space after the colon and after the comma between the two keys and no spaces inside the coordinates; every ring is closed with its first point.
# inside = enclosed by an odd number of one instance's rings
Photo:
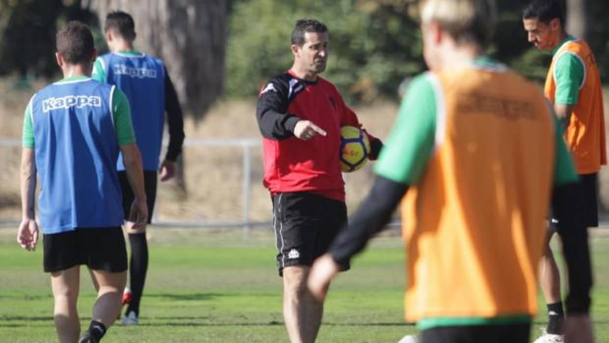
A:
{"type": "Polygon", "coordinates": [[[57,52],[71,65],[91,62],[95,53],[93,34],[80,21],[70,21],[55,36],[57,52]]]}

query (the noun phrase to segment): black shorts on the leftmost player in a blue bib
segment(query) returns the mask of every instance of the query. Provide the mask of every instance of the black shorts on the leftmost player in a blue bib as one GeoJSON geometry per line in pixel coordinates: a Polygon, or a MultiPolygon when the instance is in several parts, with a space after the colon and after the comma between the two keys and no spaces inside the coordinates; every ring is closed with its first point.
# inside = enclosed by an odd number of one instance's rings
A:
{"type": "Polygon", "coordinates": [[[86,264],[107,272],[127,270],[127,248],[121,227],[76,228],[43,235],[44,271],[58,272],[86,264]]]}

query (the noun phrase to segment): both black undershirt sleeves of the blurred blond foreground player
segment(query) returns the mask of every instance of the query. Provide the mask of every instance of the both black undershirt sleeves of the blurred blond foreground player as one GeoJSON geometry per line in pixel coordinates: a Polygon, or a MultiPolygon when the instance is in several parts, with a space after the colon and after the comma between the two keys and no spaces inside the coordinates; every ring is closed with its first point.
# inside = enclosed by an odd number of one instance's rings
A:
{"type": "MultiPolygon", "coordinates": [[[[364,250],[367,242],[380,232],[389,222],[393,210],[408,190],[408,185],[396,183],[377,176],[370,194],[362,202],[356,213],[349,219],[331,244],[329,253],[334,261],[343,264],[364,250]]],[[[592,271],[588,249],[588,232],[578,217],[582,211],[574,208],[581,204],[578,200],[578,186],[575,183],[557,186],[552,194],[552,205],[561,223],[560,237],[563,241],[565,261],[569,271],[569,295],[566,300],[568,313],[588,313],[590,311],[590,289],[592,271]]],[[[540,228],[541,230],[541,228],[540,228]]]]}

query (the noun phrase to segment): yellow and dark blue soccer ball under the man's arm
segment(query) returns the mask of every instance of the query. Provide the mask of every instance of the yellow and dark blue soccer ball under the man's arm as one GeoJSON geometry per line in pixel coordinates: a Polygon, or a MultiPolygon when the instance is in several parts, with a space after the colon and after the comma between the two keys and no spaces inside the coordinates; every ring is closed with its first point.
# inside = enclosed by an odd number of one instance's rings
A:
{"type": "Polygon", "coordinates": [[[370,142],[363,130],[354,126],[340,128],[340,170],[356,171],[368,161],[370,142]]]}

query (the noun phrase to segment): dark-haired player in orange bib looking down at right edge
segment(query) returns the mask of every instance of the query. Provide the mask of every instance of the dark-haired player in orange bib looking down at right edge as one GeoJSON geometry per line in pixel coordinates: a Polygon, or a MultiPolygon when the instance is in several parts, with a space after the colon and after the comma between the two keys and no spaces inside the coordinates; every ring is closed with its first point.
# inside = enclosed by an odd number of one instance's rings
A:
{"type": "MultiPolygon", "coordinates": [[[[580,179],[585,227],[598,226],[597,174],[607,164],[602,88],[594,54],[588,44],[567,34],[565,12],[557,0],[536,0],[523,11],[524,29],[536,48],[552,52],[544,93],[565,129],[565,142],[580,179]]],[[[570,208],[566,209],[571,211],[570,208]]],[[[552,209],[550,232],[540,263],[540,283],[547,303],[548,324],[536,343],[563,342],[560,274],[549,247],[561,222],[552,209]]]]}

